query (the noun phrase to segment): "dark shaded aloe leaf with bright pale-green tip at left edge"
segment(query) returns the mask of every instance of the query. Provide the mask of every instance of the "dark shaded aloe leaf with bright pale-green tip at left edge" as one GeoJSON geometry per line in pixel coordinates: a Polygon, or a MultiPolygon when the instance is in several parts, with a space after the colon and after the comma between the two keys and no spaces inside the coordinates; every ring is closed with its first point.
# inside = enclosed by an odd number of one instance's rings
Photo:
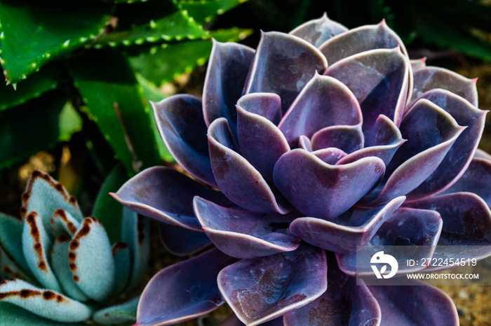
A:
{"type": "Polygon", "coordinates": [[[57,92],[1,111],[0,169],[68,141],[81,127],[79,114],[57,92]]]}

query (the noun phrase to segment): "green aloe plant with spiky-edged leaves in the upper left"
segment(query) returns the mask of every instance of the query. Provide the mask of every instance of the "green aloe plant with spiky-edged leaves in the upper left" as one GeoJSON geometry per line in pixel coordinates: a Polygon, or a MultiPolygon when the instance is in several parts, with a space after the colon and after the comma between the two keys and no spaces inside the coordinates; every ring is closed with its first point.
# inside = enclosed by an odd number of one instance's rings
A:
{"type": "Polygon", "coordinates": [[[172,160],[145,90],[206,63],[212,37],[250,34],[205,27],[242,2],[1,0],[0,168],[93,122],[102,136],[88,132],[88,141],[107,141],[130,174],[172,160]]]}

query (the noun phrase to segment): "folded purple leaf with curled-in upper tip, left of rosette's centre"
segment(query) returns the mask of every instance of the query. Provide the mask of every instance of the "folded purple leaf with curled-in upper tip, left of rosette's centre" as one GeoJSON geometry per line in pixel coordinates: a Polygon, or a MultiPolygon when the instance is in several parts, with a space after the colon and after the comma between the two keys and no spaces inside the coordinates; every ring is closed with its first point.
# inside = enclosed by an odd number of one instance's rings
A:
{"type": "Polygon", "coordinates": [[[208,129],[208,146],[220,190],[235,204],[250,211],[287,213],[288,208],[283,204],[288,203],[277,201],[261,173],[233,149],[233,143],[227,120],[215,120],[208,129]]]}

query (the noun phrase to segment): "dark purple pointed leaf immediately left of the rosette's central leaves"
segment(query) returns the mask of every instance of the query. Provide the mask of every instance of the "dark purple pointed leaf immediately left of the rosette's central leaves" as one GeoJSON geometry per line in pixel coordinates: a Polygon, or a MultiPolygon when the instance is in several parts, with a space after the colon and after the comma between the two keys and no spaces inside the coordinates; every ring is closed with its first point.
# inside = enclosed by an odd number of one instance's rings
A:
{"type": "Polygon", "coordinates": [[[280,129],[267,118],[237,106],[237,135],[245,160],[264,178],[272,180],[274,164],[290,150],[280,129]]]}

